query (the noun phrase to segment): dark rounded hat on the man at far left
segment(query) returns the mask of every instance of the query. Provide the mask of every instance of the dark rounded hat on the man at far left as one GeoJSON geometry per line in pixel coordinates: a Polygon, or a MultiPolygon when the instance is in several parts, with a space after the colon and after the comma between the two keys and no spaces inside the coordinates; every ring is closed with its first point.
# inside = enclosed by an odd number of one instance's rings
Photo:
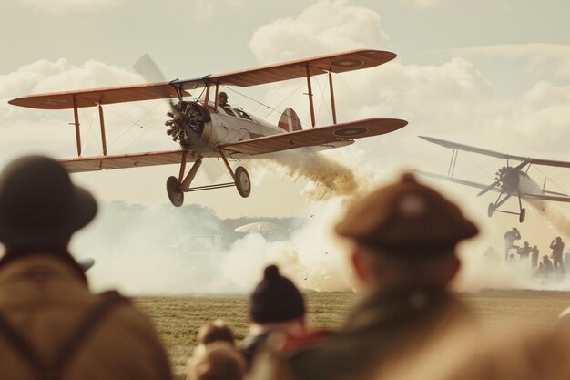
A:
{"type": "Polygon", "coordinates": [[[0,174],[0,241],[8,245],[65,239],[96,214],[96,200],[55,159],[26,156],[0,174]]]}

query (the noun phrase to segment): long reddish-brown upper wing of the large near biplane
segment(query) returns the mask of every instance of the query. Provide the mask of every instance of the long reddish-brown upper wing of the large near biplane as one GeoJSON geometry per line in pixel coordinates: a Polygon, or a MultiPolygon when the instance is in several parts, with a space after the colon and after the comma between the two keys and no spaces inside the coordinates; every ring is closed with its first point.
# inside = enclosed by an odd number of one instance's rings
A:
{"type": "MultiPolygon", "coordinates": [[[[280,80],[307,77],[308,67],[311,76],[324,74],[329,71],[343,73],[382,65],[395,57],[394,53],[387,51],[359,49],[196,79],[29,95],[12,99],[8,103],[28,108],[66,109],[74,108],[74,99],[76,107],[82,108],[93,107],[98,104],[176,98],[177,88],[192,90],[205,87],[207,84],[249,87],[280,80]]],[[[186,97],[189,94],[188,92],[183,92],[182,95],[186,97]]]]}

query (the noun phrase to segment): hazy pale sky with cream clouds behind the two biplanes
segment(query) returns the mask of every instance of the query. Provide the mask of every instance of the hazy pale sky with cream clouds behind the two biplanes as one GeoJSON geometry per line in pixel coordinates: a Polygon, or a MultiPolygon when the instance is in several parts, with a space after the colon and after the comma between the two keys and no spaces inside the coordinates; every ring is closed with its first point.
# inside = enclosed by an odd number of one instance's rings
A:
{"type": "MultiPolygon", "coordinates": [[[[68,126],[72,112],[16,108],[7,104],[9,99],[142,83],[132,66],[143,54],[174,79],[355,48],[389,50],[398,57],[381,67],[334,77],[340,121],[403,118],[409,125],[323,153],[324,173],[333,175],[340,165],[353,173],[362,191],[397,179],[402,169],[445,174],[451,150],[419,135],[570,160],[569,13],[563,0],[291,0],[271,6],[257,0],[2,2],[0,165],[32,152],[56,158],[76,154],[74,131],[68,126]]],[[[313,87],[321,91],[325,84],[314,78],[313,87]]],[[[249,98],[273,108],[292,106],[302,121],[309,119],[303,81],[228,91],[232,104],[270,121],[279,115],[249,98]]],[[[330,106],[321,99],[318,105],[319,124],[330,124],[330,106]]],[[[162,101],[106,108],[109,153],[177,149],[164,133],[166,110],[162,101]]],[[[99,154],[95,109],[84,108],[80,118],[84,155],[99,154]]],[[[285,166],[265,160],[242,163],[253,181],[248,199],[230,188],[187,194],[186,202],[209,207],[221,218],[303,217],[326,209],[338,191],[322,190],[308,180],[321,169],[304,168],[303,155],[289,159],[285,166]]],[[[460,153],[455,175],[491,183],[503,165],[498,159],[460,153]]],[[[223,169],[215,160],[205,166],[223,169]]],[[[76,174],[73,180],[101,201],[156,206],[168,203],[165,181],[177,173],[178,167],[168,166],[76,174]]],[[[529,174],[540,184],[546,179],[547,190],[570,192],[568,169],[532,168],[529,174]]],[[[197,183],[207,180],[199,176],[197,183]]],[[[526,221],[519,225],[513,215],[487,218],[494,194],[478,198],[478,190],[422,180],[460,203],[480,225],[477,249],[492,245],[501,250],[504,231],[515,225],[524,240],[546,252],[556,235],[570,239],[570,219],[565,218],[570,205],[550,204],[546,213],[526,206],[526,221]]],[[[340,192],[346,196],[347,191],[340,192]]],[[[506,206],[518,209],[515,200],[506,206]]]]}

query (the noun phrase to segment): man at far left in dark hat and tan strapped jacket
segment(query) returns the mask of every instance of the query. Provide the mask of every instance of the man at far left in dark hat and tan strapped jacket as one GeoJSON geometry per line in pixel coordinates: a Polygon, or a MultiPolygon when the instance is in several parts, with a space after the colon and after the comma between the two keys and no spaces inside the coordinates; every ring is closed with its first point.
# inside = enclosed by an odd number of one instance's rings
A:
{"type": "Polygon", "coordinates": [[[0,378],[171,379],[154,325],[117,292],[89,291],[68,252],[97,202],[54,159],[0,174],[0,378]]]}

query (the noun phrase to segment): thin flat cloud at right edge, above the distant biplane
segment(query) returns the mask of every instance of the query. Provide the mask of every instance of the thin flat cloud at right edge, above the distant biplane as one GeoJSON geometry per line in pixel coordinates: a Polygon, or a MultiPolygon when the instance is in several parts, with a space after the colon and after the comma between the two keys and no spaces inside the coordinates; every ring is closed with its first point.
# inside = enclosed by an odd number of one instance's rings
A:
{"type": "Polygon", "coordinates": [[[570,45],[503,44],[464,47],[452,51],[460,56],[489,56],[523,60],[524,67],[529,73],[570,78],[570,45]]]}

